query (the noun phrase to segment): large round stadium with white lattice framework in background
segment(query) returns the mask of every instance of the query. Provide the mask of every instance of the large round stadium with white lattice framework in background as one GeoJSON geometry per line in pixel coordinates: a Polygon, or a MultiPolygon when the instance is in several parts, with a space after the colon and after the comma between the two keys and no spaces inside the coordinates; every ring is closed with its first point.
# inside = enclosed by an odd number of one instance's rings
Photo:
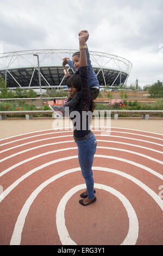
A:
{"type": "MultiPolygon", "coordinates": [[[[27,50],[0,53],[0,75],[5,79],[7,87],[14,89],[39,88],[39,66],[42,88],[66,87],[66,80],[62,70],[62,58],[72,58],[72,54],[79,50],[47,49],[27,50]],[[39,56],[39,66],[37,58],[39,56]]],[[[103,52],[90,52],[93,69],[101,87],[109,84],[111,88],[126,84],[132,64],[129,60],[103,52]]],[[[73,70],[67,66],[70,74],[73,70]]]]}

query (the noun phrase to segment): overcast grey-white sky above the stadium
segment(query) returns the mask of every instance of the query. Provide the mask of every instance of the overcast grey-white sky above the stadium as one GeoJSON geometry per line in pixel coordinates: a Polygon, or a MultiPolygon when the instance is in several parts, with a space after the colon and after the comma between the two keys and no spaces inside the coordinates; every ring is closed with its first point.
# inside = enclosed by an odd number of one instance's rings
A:
{"type": "Polygon", "coordinates": [[[133,64],[127,85],[163,82],[162,0],[0,0],[3,52],[78,48],[116,54],[133,64]]]}

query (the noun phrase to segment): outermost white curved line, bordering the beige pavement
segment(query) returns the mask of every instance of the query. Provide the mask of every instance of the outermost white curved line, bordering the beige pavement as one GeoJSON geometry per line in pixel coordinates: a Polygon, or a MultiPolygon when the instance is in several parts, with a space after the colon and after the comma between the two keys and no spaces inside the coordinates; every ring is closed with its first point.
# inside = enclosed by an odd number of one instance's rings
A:
{"type": "MultiPolygon", "coordinates": [[[[95,128],[95,127],[99,127],[99,126],[90,126],[91,128],[95,128]]],[[[15,137],[18,137],[18,136],[24,136],[24,135],[29,135],[31,133],[36,133],[36,132],[45,132],[45,131],[57,131],[57,130],[64,130],[64,129],[68,129],[70,127],[61,127],[60,129],[59,128],[55,128],[55,129],[47,129],[47,130],[40,130],[40,131],[34,131],[34,132],[27,132],[27,133],[22,133],[20,135],[15,135],[15,136],[11,136],[11,137],[7,137],[7,138],[3,138],[3,139],[0,139],[0,141],[4,141],[5,139],[10,139],[10,138],[15,138],[15,137]]],[[[101,128],[105,128],[104,126],[101,127],[101,128]]],[[[161,133],[157,133],[157,132],[149,132],[149,131],[142,131],[142,130],[136,130],[136,129],[130,129],[130,128],[125,128],[125,127],[107,127],[108,129],[122,129],[122,130],[131,130],[131,131],[139,131],[139,132],[146,132],[146,133],[152,133],[152,134],[155,134],[155,135],[160,135],[160,136],[163,136],[161,133]]]]}

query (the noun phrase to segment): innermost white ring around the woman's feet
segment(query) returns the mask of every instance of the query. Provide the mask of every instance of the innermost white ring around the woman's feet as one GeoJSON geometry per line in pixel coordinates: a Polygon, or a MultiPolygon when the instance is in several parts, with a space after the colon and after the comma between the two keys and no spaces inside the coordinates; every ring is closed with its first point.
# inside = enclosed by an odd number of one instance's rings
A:
{"type": "MultiPolygon", "coordinates": [[[[117,190],[115,190],[110,186],[95,183],[94,187],[99,188],[101,190],[108,191],[111,194],[114,194],[114,196],[116,196],[118,199],[121,200],[122,204],[124,205],[124,208],[126,208],[127,210],[127,214],[129,217],[128,234],[126,236],[126,239],[124,239],[124,241],[121,243],[121,245],[135,245],[138,234],[139,234],[139,222],[137,220],[135,210],[133,206],[130,204],[129,200],[122,193],[118,192],[117,190]]],[[[71,190],[69,190],[64,195],[64,197],[62,197],[62,199],[58,204],[57,213],[56,213],[56,224],[57,224],[57,230],[58,230],[59,238],[62,245],[77,245],[77,243],[71,239],[66,228],[65,208],[68,200],[73,196],[73,194],[78,192],[79,190],[82,190],[83,188],[85,188],[85,184],[81,184],[71,188],[71,190]]]]}

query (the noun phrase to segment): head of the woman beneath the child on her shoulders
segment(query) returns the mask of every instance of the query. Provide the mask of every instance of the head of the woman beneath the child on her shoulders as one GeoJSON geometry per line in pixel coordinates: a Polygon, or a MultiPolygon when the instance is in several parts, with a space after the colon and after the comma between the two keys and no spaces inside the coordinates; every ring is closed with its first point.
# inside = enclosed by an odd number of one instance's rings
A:
{"type": "Polygon", "coordinates": [[[68,82],[67,82],[67,87],[68,87],[68,93],[69,93],[70,97],[72,98],[74,96],[74,94],[79,92],[79,90],[81,89],[79,75],[70,76],[70,78],[68,79],[68,82]]]}

